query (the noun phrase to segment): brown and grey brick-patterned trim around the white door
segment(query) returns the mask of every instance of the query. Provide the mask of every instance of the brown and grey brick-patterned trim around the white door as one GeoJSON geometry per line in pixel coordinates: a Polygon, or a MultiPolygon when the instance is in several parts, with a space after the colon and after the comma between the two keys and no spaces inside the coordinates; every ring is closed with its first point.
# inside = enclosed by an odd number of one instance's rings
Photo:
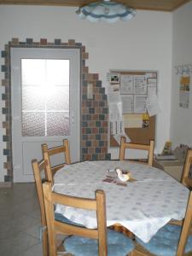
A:
{"type": "Polygon", "coordinates": [[[32,38],[26,38],[26,42],[20,42],[19,38],[12,38],[6,44],[1,56],[4,65],[1,71],[4,73],[2,86],[4,92],[2,101],[4,107],[2,113],[5,116],[3,121],[3,155],[6,161],[3,168],[7,174],[4,176],[4,183],[13,181],[13,159],[12,159],[12,127],[11,127],[11,67],[10,50],[13,47],[24,48],[49,48],[49,49],[79,49],[81,57],[81,160],[109,160],[108,154],[108,99],[105,89],[102,88],[102,81],[99,80],[98,73],[89,73],[89,67],[85,66],[85,60],[89,54],[85,51],[85,46],[76,43],[74,39],[69,39],[67,43],[62,43],[61,39],[55,39],[49,43],[46,38],[41,38],[39,42],[34,42],[32,38]],[[88,99],[87,86],[93,84],[93,99],[88,99]]]}

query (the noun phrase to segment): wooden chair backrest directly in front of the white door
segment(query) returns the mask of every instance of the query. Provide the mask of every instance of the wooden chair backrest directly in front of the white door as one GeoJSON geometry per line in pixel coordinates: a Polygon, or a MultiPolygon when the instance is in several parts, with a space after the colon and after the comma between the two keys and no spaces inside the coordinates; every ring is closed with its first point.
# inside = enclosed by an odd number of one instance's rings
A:
{"type": "Polygon", "coordinates": [[[70,151],[69,151],[69,145],[68,145],[68,140],[64,139],[63,144],[58,147],[54,148],[48,148],[48,145],[44,143],[42,145],[42,154],[44,157],[44,160],[48,161],[48,166],[47,166],[47,175],[48,175],[48,180],[52,183],[54,183],[53,177],[55,175],[55,172],[61,169],[61,167],[65,165],[71,164],[71,157],[70,157],[70,151]],[[51,166],[51,160],[50,157],[55,155],[55,154],[63,154],[63,163],[57,165],[57,166],[51,166]]]}

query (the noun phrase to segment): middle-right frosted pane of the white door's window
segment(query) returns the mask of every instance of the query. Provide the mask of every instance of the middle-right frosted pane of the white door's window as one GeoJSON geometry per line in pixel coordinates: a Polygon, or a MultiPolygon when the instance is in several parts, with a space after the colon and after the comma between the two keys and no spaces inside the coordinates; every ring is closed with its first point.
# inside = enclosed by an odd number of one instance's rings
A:
{"type": "Polygon", "coordinates": [[[69,111],[69,87],[55,86],[51,96],[47,97],[47,110],[69,111]]]}

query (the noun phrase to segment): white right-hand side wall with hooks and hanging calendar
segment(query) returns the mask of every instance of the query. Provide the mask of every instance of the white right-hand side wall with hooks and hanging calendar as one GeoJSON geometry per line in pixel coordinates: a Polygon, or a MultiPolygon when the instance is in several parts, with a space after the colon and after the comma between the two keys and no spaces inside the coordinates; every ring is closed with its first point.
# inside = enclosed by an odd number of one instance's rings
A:
{"type": "MultiPolygon", "coordinates": [[[[192,146],[192,82],[189,108],[179,107],[179,76],[174,66],[192,64],[192,1],[173,13],[172,22],[172,122],[171,139],[174,146],[180,143],[192,146]]],[[[192,75],[191,75],[192,80],[192,75]]]]}

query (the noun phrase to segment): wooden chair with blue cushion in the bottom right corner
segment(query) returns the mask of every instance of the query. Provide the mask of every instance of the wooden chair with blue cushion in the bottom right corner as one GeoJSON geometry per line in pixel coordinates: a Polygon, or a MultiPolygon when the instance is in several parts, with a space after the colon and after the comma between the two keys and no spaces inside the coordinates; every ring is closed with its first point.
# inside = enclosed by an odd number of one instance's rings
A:
{"type": "Polygon", "coordinates": [[[188,206],[183,219],[183,226],[166,224],[148,243],[137,239],[134,256],[192,255],[192,192],[189,194],[188,206]]]}

